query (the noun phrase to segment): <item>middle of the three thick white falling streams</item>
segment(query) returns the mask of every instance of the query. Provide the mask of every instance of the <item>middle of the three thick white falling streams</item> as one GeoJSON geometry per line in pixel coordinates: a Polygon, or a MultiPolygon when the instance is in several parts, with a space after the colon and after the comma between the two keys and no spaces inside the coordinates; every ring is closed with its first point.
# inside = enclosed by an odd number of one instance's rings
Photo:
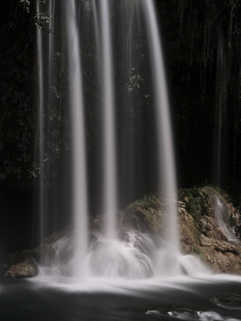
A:
{"type": "Polygon", "coordinates": [[[115,213],[117,209],[117,182],[115,156],[115,125],[114,125],[114,78],[111,33],[109,23],[109,2],[101,4],[101,37],[102,37],[102,92],[103,92],[103,171],[104,171],[104,213],[106,215],[105,233],[108,238],[116,236],[115,213]]]}

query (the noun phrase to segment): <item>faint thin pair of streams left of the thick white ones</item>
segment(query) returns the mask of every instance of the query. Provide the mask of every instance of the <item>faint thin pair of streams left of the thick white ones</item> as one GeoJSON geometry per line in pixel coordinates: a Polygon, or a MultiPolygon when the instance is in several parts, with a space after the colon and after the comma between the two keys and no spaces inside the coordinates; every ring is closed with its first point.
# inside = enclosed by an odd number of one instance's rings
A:
{"type": "MultiPolygon", "coordinates": [[[[56,89],[57,79],[55,79],[56,64],[53,64],[56,54],[54,36],[55,21],[50,16],[55,12],[55,1],[48,3],[46,8],[49,12],[48,32],[43,31],[43,26],[38,29],[38,67],[39,67],[39,116],[38,116],[38,167],[40,171],[39,179],[39,224],[40,238],[43,240],[46,236],[58,228],[59,208],[61,202],[57,202],[58,189],[61,178],[59,178],[59,162],[55,163],[54,168],[50,164],[53,159],[53,150],[57,153],[59,148],[59,138],[57,131],[58,124],[55,122],[56,115],[56,89]],[[55,116],[53,116],[55,115],[55,116]],[[55,117],[55,119],[53,119],[55,117]],[[57,126],[56,126],[57,125],[57,126]],[[57,128],[56,128],[57,127],[57,128]],[[53,177],[58,176],[57,179],[53,177]],[[56,183],[57,181],[57,183],[56,183]],[[56,213],[58,213],[56,215],[56,213]],[[57,216],[57,218],[56,218],[57,216]]],[[[37,3],[37,11],[42,12],[44,6],[37,3]]],[[[60,112],[60,111],[59,111],[60,112]]]]}

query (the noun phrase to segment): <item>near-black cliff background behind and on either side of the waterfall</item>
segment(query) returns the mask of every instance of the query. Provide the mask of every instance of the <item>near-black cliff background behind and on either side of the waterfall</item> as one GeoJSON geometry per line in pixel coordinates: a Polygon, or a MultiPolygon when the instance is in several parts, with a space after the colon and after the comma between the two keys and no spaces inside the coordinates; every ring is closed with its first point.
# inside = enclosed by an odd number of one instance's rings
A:
{"type": "MultiPolygon", "coordinates": [[[[220,185],[238,205],[240,2],[156,0],[155,3],[171,99],[178,187],[220,185]],[[220,114],[222,141],[218,155],[220,114]]],[[[8,252],[36,246],[39,238],[36,235],[39,182],[34,177],[38,121],[35,15],[34,0],[27,7],[20,0],[0,3],[0,258],[8,252]]],[[[147,123],[153,120],[151,112],[145,109],[142,117],[147,123]]],[[[94,122],[88,121],[90,128],[95,129],[94,122]]],[[[154,155],[150,144],[154,134],[145,126],[142,144],[146,152],[154,155]]],[[[91,133],[88,137],[91,164],[94,162],[91,133]]],[[[140,159],[142,155],[137,160],[140,159]]],[[[141,162],[144,172],[150,168],[150,160],[141,162]]],[[[156,182],[150,179],[154,176],[155,173],[146,171],[145,189],[137,189],[132,198],[155,192],[156,182]]],[[[121,188],[125,190],[125,186],[121,188]]],[[[121,206],[132,198],[123,196],[121,206]]]]}

